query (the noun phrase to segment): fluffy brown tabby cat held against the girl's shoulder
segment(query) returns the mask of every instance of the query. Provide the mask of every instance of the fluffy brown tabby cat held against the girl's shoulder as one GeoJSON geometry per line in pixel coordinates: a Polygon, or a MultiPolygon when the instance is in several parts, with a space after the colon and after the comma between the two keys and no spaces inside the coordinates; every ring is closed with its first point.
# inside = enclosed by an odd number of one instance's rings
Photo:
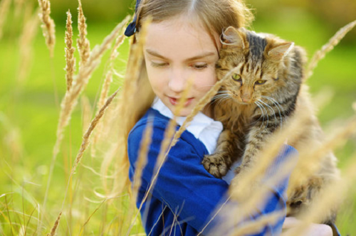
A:
{"type": "MultiPolygon", "coordinates": [[[[236,169],[237,175],[253,168],[258,151],[271,134],[298,111],[308,112],[310,117],[303,127],[303,135],[288,144],[298,150],[300,146],[316,145],[323,140],[308,87],[303,83],[303,48],[273,35],[233,27],[224,31],[221,43],[220,59],[216,63],[218,80],[239,63],[243,65],[216,95],[214,118],[224,124],[224,130],[215,154],[204,157],[203,164],[209,173],[221,178],[239,159],[242,162],[236,169]]],[[[289,215],[298,213],[325,183],[339,176],[332,153],[323,157],[320,166],[308,184],[288,190],[289,215]]],[[[323,222],[334,221],[335,210],[331,210],[323,222]]]]}

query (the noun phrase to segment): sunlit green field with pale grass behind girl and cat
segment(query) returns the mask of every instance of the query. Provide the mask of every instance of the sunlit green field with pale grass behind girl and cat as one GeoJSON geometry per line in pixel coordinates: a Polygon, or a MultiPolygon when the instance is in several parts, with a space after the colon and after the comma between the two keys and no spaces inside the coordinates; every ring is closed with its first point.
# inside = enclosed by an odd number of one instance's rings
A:
{"type": "MultiPolygon", "coordinates": [[[[0,1],[0,13],[4,13],[1,7],[6,8],[6,1],[0,1]]],[[[104,122],[99,122],[94,129],[91,144],[71,175],[83,135],[101,107],[98,102],[108,71],[112,71],[112,82],[105,97],[122,87],[129,39],[125,38],[117,49],[117,57],[110,59],[115,40],[122,35],[122,31],[117,31],[110,48],[103,53],[98,68],[90,75],[88,86],[83,87],[78,96],[78,104],[70,114],[68,126],[63,129],[63,140],[53,162],[61,102],[67,90],[65,32],[68,9],[56,12],[61,18],[55,19],[56,44],[51,57],[35,10],[38,2],[34,1],[32,7],[28,2],[21,6],[17,5],[18,1],[9,1],[9,4],[6,14],[0,14],[0,22],[4,21],[0,23],[0,235],[46,235],[53,230],[60,213],[58,235],[126,235],[130,227],[128,235],[145,235],[140,217],[135,218],[137,210],[130,194],[112,192],[113,179],[127,176],[120,172],[115,162],[120,159],[114,150],[117,142],[114,128],[117,123],[120,125],[115,117],[117,100],[105,112],[104,122]],[[94,141],[95,137],[98,139],[94,141]],[[103,160],[110,155],[114,161],[105,170],[103,160]]],[[[80,55],[76,43],[79,37],[75,8],[71,14],[76,58],[74,74],[78,77],[80,55]]],[[[85,14],[85,1],[83,10],[85,14]]],[[[269,17],[260,17],[258,12],[256,9],[253,31],[273,33],[294,41],[307,50],[308,58],[336,32],[302,8],[288,7],[269,17]]],[[[112,22],[87,18],[90,49],[103,43],[124,18],[122,15],[112,22]]],[[[345,41],[340,41],[320,60],[307,81],[326,136],[335,134],[356,115],[355,31],[356,28],[352,29],[350,33],[353,34],[347,35],[345,41]]],[[[356,160],[356,129],[352,132],[335,149],[342,173],[356,160]]],[[[347,178],[355,183],[355,177],[347,178]]],[[[356,235],[355,190],[355,184],[347,189],[337,216],[336,225],[342,235],[356,235]]]]}

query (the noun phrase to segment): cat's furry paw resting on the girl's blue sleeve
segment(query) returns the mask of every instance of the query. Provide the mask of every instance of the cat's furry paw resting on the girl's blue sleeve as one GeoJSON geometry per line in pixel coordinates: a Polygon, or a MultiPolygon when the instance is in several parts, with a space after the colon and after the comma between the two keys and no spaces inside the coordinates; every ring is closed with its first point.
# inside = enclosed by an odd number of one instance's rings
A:
{"type": "Polygon", "coordinates": [[[206,171],[211,173],[216,178],[225,176],[229,167],[226,165],[224,154],[216,153],[204,156],[202,162],[206,171]]]}

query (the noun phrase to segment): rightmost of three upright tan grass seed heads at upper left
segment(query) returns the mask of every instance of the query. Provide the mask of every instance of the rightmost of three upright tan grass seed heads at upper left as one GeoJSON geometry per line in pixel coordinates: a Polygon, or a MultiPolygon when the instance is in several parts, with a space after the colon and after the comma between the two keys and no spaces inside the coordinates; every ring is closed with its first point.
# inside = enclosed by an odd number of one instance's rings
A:
{"type": "Polygon", "coordinates": [[[80,55],[80,67],[87,63],[90,56],[90,42],[87,38],[87,24],[85,23],[86,19],[83,13],[82,3],[78,0],[78,31],[79,38],[77,39],[77,45],[80,55]]]}

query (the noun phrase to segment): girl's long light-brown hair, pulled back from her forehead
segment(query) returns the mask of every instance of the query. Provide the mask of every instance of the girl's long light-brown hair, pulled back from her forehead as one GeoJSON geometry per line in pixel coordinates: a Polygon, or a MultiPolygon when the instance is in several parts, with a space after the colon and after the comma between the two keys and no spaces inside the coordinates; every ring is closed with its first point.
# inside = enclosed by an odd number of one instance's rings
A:
{"type": "MultiPolygon", "coordinates": [[[[137,9],[137,32],[140,32],[142,23],[148,17],[151,18],[153,23],[158,23],[170,18],[181,16],[182,14],[191,17],[193,21],[201,23],[210,36],[219,36],[224,28],[234,26],[235,28],[246,27],[253,19],[251,11],[246,7],[243,0],[142,0],[140,6],[137,9]]],[[[137,34],[137,32],[135,34],[137,34]]],[[[137,55],[132,53],[132,46],[137,43],[137,38],[134,35],[131,41],[131,49],[129,60],[137,55]]],[[[141,52],[143,54],[143,52],[141,52]]],[[[121,130],[120,136],[125,144],[120,144],[124,149],[120,158],[120,166],[128,169],[127,158],[127,136],[130,133],[132,127],[136,122],[145,114],[147,109],[151,106],[155,94],[150,87],[150,82],[147,79],[145,62],[140,65],[140,72],[138,81],[136,83],[135,93],[132,95],[132,100],[125,101],[130,102],[130,109],[126,109],[125,114],[119,115],[117,119],[120,122],[121,130]]],[[[125,85],[123,86],[125,89],[125,85]]],[[[121,100],[121,102],[124,102],[121,100]]],[[[120,170],[122,171],[122,170],[120,170]]],[[[127,171],[122,173],[120,179],[120,186],[122,183],[128,183],[127,171]],[[122,178],[125,178],[123,180],[122,178]]],[[[120,191],[120,189],[117,189],[120,191]]],[[[122,191],[122,189],[121,189],[122,191]]]]}

